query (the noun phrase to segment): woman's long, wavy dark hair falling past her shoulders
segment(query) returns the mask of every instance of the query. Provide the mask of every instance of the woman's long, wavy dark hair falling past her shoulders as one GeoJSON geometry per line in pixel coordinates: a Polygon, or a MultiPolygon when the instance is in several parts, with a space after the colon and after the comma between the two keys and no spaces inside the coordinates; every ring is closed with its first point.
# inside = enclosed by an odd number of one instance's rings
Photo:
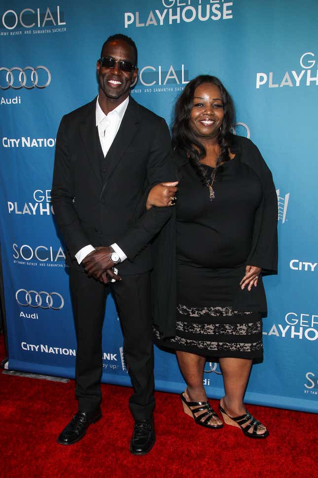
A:
{"type": "Polygon", "coordinates": [[[179,96],[175,107],[175,120],[172,127],[173,148],[183,150],[190,159],[190,163],[197,174],[205,180],[207,176],[206,168],[200,163],[205,158],[206,149],[199,139],[193,134],[189,120],[193,106],[193,97],[195,89],[202,83],[213,83],[220,88],[223,102],[224,118],[218,135],[218,144],[220,146],[220,155],[216,160],[216,167],[223,161],[228,161],[229,149],[232,146],[231,127],[235,120],[235,109],[231,96],[223,86],[221,81],[210,75],[200,75],[191,80],[181,95],[179,96]]]}

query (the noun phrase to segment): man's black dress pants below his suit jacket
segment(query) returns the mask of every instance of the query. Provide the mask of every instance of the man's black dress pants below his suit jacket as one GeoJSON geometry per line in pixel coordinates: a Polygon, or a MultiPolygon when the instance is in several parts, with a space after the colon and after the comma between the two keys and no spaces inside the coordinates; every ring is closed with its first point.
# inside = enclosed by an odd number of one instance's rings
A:
{"type": "Polygon", "coordinates": [[[102,401],[102,328],[106,297],[112,290],[124,333],[124,355],[134,387],[129,406],[135,420],[150,419],[155,405],[150,273],[122,276],[120,282],[104,285],[71,268],[70,288],[77,338],[75,394],[78,409],[92,411],[102,401]]]}

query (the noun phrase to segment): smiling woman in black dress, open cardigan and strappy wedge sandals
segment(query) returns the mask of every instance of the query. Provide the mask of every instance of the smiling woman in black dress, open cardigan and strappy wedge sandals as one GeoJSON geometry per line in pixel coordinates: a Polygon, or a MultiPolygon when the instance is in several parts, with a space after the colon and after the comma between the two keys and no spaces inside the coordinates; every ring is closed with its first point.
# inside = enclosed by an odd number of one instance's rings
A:
{"type": "MultiPolygon", "coordinates": [[[[187,383],[184,411],[198,425],[223,426],[203,386],[206,358],[213,356],[223,375],[224,421],[247,437],[266,438],[243,398],[252,360],[263,355],[262,275],[277,272],[277,196],[258,149],[230,132],[233,122],[233,102],[215,77],[190,81],[177,101],[179,184],[173,216],[155,244],[155,339],[176,349],[187,383]]],[[[147,207],[173,205],[165,192],[155,186],[147,207]]]]}

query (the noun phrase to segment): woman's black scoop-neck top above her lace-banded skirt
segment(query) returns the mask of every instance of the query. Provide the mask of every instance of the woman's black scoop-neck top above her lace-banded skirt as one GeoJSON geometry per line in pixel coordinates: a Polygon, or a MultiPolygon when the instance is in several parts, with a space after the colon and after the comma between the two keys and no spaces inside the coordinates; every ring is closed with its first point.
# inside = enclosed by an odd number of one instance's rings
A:
{"type": "MultiPolygon", "coordinates": [[[[236,267],[246,261],[263,189],[238,156],[218,168],[212,200],[191,164],[182,167],[176,205],[179,259],[210,268],[236,267]]],[[[213,168],[205,168],[211,177],[213,168]]]]}

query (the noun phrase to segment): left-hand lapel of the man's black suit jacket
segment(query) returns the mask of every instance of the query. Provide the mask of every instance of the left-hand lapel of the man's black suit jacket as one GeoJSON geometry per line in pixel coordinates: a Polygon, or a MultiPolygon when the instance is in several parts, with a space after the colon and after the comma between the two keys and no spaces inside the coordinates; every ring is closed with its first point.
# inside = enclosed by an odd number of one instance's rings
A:
{"type": "Polygon", "coordinates": [[[89,103],[88,110],[79,126],[87,159],[92,166],[97,181],[102,186],[99,164],[99,143],[96,141],[96,98],[89,103]]]}

